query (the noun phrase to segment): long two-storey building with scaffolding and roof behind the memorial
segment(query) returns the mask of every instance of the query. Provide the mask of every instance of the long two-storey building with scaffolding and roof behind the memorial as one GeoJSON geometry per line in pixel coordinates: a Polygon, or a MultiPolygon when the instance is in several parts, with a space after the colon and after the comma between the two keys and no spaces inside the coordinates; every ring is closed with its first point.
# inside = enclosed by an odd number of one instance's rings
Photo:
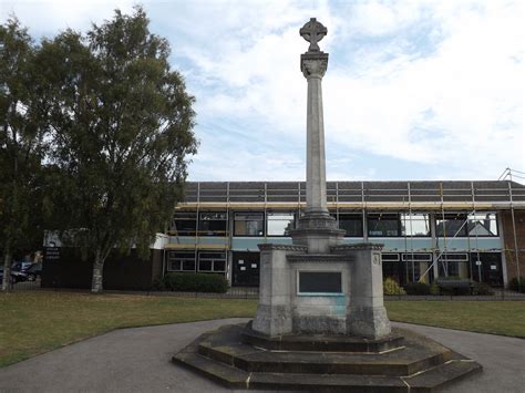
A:
{"type": "MultiPolygon", "coordinates": [[[[384,245],[383,277],[459,276],[502,287],[525,276],[525,186],[515,182],[328,182],[344,242],[384,245]]],[[[164,246],[163,272],[259,282],[259,244],[291,244],[303,182],[188,183],[164,246]]]]}

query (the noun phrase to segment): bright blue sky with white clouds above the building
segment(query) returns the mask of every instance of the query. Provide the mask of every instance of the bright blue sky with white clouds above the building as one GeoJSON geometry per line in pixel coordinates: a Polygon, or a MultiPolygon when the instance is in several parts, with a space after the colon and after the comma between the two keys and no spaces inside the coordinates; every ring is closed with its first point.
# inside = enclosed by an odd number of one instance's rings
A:
{"type": "MultiPolygon", "coordinates": [[[[135,1],[0,0],[39,40],[135,1]]],[[[303,180],[299,29],[317,18],[329,180],[497,179],[525,172],[524,1],[143,1],[196,97],[189,180],[303,180]]],[[[523,183],[523,182],[521,182],[523,183]]]]}

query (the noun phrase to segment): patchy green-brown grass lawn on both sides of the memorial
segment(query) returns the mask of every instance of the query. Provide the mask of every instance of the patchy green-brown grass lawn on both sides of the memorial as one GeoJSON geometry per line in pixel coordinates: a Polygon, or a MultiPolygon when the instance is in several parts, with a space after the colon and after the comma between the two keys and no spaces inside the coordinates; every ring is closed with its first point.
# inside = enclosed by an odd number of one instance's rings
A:
{"type": "MultiPolygon", "coordinates": [[[[28,291],[0,294],[0,366],[119,328],[253,317],[257,302],[28,291]]],[[[394,321],[525,338],[521,301],[391,301],[394,321]]]]}

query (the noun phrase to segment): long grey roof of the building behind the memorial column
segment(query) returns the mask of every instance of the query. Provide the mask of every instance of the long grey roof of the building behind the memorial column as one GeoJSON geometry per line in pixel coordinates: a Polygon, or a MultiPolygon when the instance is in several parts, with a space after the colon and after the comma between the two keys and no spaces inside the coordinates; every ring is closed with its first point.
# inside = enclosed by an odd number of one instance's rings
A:
{"type": "MultiPolygon", "coordinates": [[[[299,205],[306,201],[305,182],[188,182],[184,204],[299,205]]],[[[487,182],[327,182],[329,205],[491,205],[525,207],[525,186],[508,180],[487,182]],[[512,198],[511,198],[512,194],[512,198]]]]}

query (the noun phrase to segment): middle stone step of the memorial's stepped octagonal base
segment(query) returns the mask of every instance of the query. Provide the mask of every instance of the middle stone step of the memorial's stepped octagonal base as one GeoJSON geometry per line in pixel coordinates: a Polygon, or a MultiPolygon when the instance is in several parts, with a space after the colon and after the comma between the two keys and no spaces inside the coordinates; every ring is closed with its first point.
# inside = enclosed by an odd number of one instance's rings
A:
{"type": "Polygon", "coordinates": [[[238,327],[219,329],[199,341],[204,356],[247,372],[412,375],[452,359],[452,351],[432,340],[409,335],[409,347],[389,353],[268,351],[239,342],[238,327]]]}

